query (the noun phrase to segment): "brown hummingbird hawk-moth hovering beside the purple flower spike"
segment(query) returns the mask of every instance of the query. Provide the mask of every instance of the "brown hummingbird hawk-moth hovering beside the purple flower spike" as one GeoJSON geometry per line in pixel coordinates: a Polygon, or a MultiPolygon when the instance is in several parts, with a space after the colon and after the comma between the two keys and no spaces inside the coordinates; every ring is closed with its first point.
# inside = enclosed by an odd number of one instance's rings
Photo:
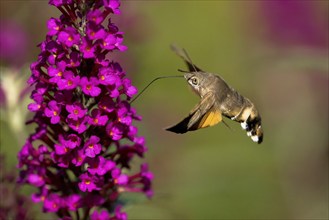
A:
{"type": "Polygon", "coordinates": [[[216,125],[223,120],[222,116],[225,116],[241,123],[247,135],[260,144],[263,141],[263,129],[255,105],[219,75],[205,72],[194,65],[184,49],[172,46],[172,50],[185,61],[188,71],[180,71],[184,72],[187,83],[201,100],[186,118],[166,130],[183,134],[216,125]]]}

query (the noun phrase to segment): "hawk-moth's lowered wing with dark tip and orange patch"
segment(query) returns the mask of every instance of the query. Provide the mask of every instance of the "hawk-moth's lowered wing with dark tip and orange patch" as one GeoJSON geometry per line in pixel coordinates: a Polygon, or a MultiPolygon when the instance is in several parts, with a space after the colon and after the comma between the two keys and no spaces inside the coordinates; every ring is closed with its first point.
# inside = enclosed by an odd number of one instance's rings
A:
{"type": "Polygon", "coordinates": [[[222,113],[215,105],[215,95],[208,93],[178,124],[166,130],[183,134],[188,131],[213,126],[222,120],[222,113]]]}

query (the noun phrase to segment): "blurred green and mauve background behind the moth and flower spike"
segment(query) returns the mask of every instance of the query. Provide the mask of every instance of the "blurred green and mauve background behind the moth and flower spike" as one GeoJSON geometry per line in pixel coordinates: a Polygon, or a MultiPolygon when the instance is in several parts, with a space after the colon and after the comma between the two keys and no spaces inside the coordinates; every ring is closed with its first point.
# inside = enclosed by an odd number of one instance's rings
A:
{"type": "MultiPolygon", "coordinates": [[[[155,195],[132,197],[131,219],[328,219],[328,7],[315,0],[122,2],[113,19],[129,50],[116,59],[135,86],[180,74],[185,66],[169,50],[175,43],[254,101],[265,132],[261,145],[228,120],[231,130],[166,132],[198,97],[183,79],[156,82],[133,104],[143,116],[136,125],[147,140],[155,195]]],[[[47,1],[1,0],[0,12],[1,154],[16,171],[31,129],[22,92],[28,67],[58,11],[47,1]]]]}

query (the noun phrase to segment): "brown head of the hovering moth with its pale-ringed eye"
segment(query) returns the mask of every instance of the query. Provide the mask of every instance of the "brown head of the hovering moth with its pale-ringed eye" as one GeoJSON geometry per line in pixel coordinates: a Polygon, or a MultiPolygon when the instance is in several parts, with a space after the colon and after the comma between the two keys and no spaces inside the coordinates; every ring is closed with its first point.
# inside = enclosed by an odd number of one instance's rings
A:
{"type": "Polygon", "coordinates": [[[185,73],[184,78],[191,88],[201,97],[208,92],[208,86],[213,81],[213,75],[206,72],[185,73]]]}

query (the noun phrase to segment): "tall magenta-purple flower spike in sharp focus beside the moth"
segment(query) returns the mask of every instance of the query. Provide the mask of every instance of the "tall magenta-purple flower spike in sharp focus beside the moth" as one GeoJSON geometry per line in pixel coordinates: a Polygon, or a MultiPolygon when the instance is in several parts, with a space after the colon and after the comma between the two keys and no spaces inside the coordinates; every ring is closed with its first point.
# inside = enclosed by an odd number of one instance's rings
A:
{"type": "Polygon", "coordinates": [[[49,19],[30,66],[29,123],[36,129],[18,153],[18,182],[37,188],[32,201],[58,219],[126,220],[120,194],[150,197],[153,174],[147,164],[138,172],[131,163],[147,151],[132,125],[141,120],[129,103],[137,88],[108,56],[127,49],[111,22],[120,1],[49,4],[62,14],[49,19]]]}

